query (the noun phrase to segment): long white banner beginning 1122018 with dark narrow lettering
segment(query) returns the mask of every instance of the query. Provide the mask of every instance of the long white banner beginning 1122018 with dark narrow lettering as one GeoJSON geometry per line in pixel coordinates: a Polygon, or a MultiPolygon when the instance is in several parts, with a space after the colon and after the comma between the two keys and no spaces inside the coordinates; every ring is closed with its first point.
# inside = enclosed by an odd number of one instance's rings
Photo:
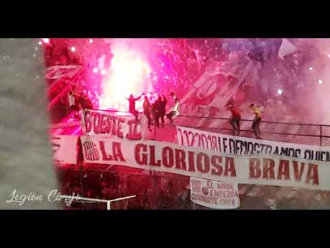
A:
{"type": "Polygon", "coordinates": [[[203,147],[223,154],[274,154],[288,158],[330,162],[330,147],[264,141],[206,132],[189,127],[177,126],[177,143],[190,147],[203,147]]]}

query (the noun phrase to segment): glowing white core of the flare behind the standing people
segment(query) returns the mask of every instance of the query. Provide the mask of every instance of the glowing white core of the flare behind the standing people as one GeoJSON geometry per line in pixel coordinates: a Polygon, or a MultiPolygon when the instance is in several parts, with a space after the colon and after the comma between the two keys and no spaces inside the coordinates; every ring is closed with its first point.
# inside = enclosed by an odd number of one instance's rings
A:
{"type": "MultiPolygon", "coordinates": [[[[113,45],[111,52],[113,58],[108,76],[103,81],[100,109],[128,111],[129,101],[126,98],[129,98],[130,94],[135,97],[142,94],[151,69],[140,54],[130,51],[126,45],[113,45]]],[[[137,101],[135,107],[140,111],[142,101],[137,101]]]]}

